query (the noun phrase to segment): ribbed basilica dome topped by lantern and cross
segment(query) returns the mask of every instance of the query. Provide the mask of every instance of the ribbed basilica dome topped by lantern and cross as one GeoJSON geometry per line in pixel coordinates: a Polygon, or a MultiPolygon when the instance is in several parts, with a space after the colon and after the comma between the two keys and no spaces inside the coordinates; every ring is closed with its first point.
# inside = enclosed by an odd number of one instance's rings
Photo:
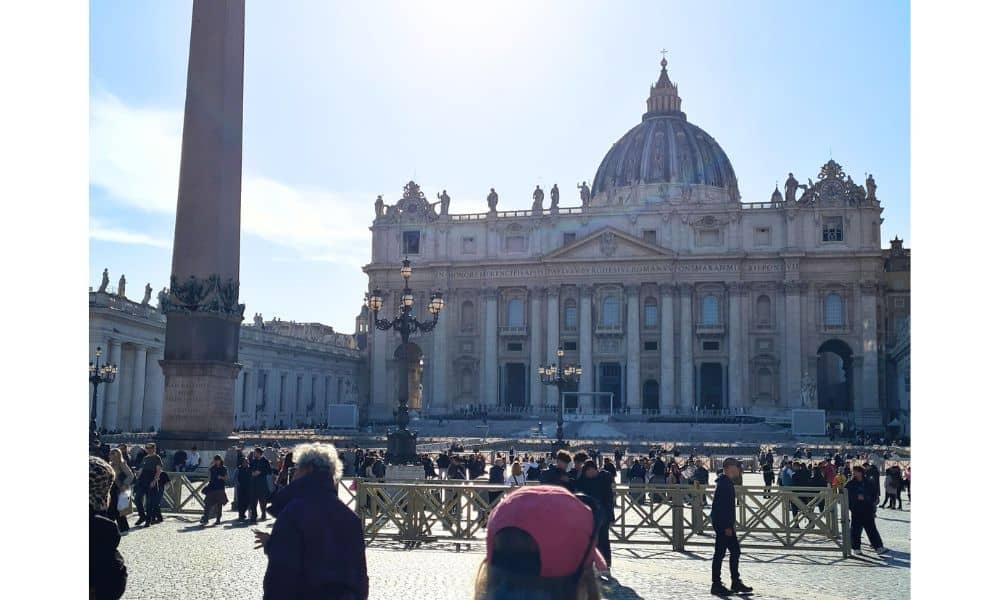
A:
{"type": "Polygon", "coordinates": [[[660,78],[650,88],[642,122],[622,136],[604,156],[594,175],[593,194],[610,195],[616,188],[675,184],[720,188],[739,198],[729,157],[712,136],[688,122],[681,112],[677,86],[660,61],[660,78]]]}

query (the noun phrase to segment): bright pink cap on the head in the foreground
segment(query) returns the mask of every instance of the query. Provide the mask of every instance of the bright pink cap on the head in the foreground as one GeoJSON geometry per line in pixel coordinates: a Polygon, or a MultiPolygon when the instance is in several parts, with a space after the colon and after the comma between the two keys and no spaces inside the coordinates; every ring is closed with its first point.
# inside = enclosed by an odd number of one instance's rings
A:
{"type": "Polygon", "coordinates": [[[608,568],[595,543],[591,543],[594,516],[590,507],[566,488],[535,485],[504,496],[486,525],[487,563],[493,558],[497,532],[506,527],[524,530],[538,545],[541,577],[572,575],[585,553],[590,554],[588,563],[599,571],[608,568]]]}

